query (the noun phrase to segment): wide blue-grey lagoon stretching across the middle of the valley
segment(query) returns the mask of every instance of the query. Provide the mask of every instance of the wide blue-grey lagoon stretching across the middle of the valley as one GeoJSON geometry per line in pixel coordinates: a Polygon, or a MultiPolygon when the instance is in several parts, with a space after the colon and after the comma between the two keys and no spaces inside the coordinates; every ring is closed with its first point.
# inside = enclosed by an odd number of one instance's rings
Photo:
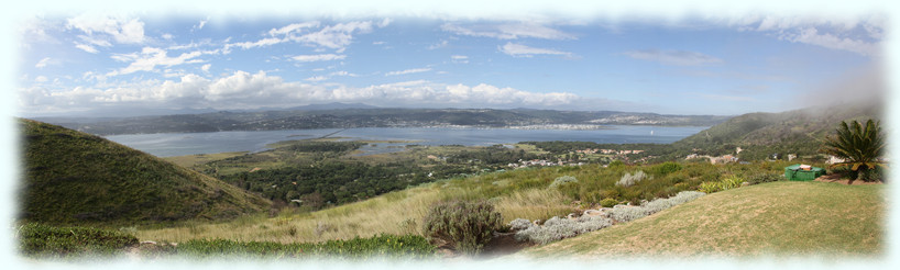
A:
{"type": "Polygon", "coordinates": [[[601,144],[669,144],[696,134],[709,126],[613,125],[603,130],[515,130],[476,127],[360,127],[253,132],[158,133],[111,135],[106,138],[157,157],[260,151],[267,144],[309,139],[329,135],[350,140],[404,140],[408,143],[364,146],[364,154],[402,150],[405,145],[489,146],[527,140],[594,142],[601,144]],[[336,133],[337,132],[337,133],[336,133]]]}

